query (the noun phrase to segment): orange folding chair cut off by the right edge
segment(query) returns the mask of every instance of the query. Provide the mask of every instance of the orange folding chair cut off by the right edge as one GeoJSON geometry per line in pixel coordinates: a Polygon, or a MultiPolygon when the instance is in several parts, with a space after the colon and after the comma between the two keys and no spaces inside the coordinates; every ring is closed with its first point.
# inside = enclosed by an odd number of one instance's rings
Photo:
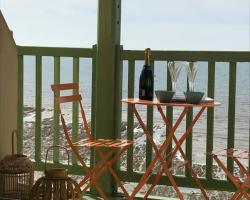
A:
{"type": "Polygon", "coordinates": [[[240,162],[240,159],[250,158],[250,153],[248,151],[237,150],[237,149],[223,149],[216,153],[212,153],[214,160],[218,163],[219,167],[226,173],[228,178],[237,188],[236,192],[232,196],[232,200],[238,200],[244,197],[250,200],[250,173],[248,169],[240,162]],[[228,157],[232,159],[239,167],[239,171],[243,175],[243,178],[238,177],[233,172],[230,172],[227,167],[223,164],[219,157],[228,157]]]}

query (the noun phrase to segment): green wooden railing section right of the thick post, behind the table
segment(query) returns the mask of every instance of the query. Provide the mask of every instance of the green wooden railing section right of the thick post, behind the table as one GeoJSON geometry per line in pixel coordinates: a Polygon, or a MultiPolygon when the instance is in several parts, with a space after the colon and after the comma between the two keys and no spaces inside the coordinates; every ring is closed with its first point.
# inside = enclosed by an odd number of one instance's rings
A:
{"type": "MultiPolygon", "coordinates": [[[[136,61],[144,59],[144,51],[129,51],[122,52],[122,60],[128,61],[128,97],[134,97],[135,86],[135,68],[136,61]]],[[[187,52],[187,51],[153,51],[152,52],[152,66],[156,68],[154,63],[156,61],[164,61],[167,67],[167,61],[201,61],[208,64],[208,85],[207,96],[214,98],[215,95],[215,69],[216,63],[225,62],[229,64],[229,94],[228,94],[228,130],[227,130],[227,148],[234,148],[235,141],[235,105],[236,105],[236,75],[237,75],[237,63],[246,62],[250,68],[250,53],[249,52],[187,52]]],[[[171,90],[171,79],[169,72],[166,73],[167,84],[166,89],[171,90]]],[[[138,78],[138,77],[137,77],[138,78]]],[[[219,86],[218,86],[219,87],[219,86]]],[[[246,86],[249,87],[249,86],[246,86]]],[[[222,102],[223,103],[223,102],[222,102]]],[[[246,105],[242,105],[246,106],[246,105]]],[[[249,103],[248,103],[249,106],[249,103]]],[[[246,107],[246,111],[247,110],[246,107]]],[[[167,108],[167,116],[173,116],[173,109],[167,108]]],[[[192,121],[193,112],[189,112],[186,117],[186,127],[192,121]]],[[[153,108],[147,108],[146,124],[150,131],[153,131],[153,108]]],[[[249,121],[249,116],[246,119],[249,121]]],[[[172,121],[172,118],[171,118],[172,121]]],[[[134,137],[134,116],[132,109],[128,106],[128,139],[134,137]]],[[[167,131],[166,131],[167,134],[167,131]]],[[[249,131],[250,135],[250,131],[249,131]]],[[[249,140],[249,135],[246,139],[249,140]]],[[[207,110],[207,130],[206,130],[206,152],[213,150],[213,138],[214,138],[214,108],[208,108],[207,110]]],[[[250,146],[250,140],[249,140],[250,146]]],[[[192,133],[186,141],[186,154],[189,160],[192,161],[192,133]]],[[[146,145],[146,164],[150,163],[152,158],[152,148],[149,144],[146,145]]],[[[120,171],[120,176],[124,181],[137,182],[142,176],[140,173],[133,171],[133,151],[130,149],[127,156],[127,171],[120,171]]],[[[233,163],[228,160],[227,165],[229,170],[233,170],[233,163]]],[[[205,177],[200,178],[205,188],[211,190],[234,190],[233,185],[227,180],[218,180],[212,178],[213,172],[213,160],[209,154],[206,154],[206,174],[205,177]]],[[[154,176],[149,179],[150,184],[154,176]]],[[[185,171],[185,176],[175,176],[178,186],[182,187],[197,187],[190,174],[185,171]]],[[[162,176],[159,184],[169,184],[166,178],[162,176]]]]}

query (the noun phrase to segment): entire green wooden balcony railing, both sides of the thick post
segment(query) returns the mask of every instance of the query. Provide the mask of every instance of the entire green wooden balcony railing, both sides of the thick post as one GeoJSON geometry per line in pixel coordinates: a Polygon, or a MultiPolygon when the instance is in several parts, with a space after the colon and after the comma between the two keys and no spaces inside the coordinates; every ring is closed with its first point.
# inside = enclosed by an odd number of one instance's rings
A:
{"type": "MultiPolygon", "coordinates": [[[[43,161],[41,159],[41,99],[42,99],[42,57],[43,56],[52,56],[54,57],[54,83],[60,82],[60,57],[71,57],[73,58],[73,81],[79,82],[79,58],[91,58],[93,72],[95,70],[95,47],[90,49],[77,49],[77,48],[47,48],[47,47],[18,47],[18,130],[19,134],[19,152],[23,150],[23,95],[24,95],[24,79],[23,79],[23,58],[26,55],[33,55],[36,58],[36,81],[35,81],[35,159],[34,166],[36,170],[43,170],[43,161]]],[[[121,50],[121,60],[128,63],[128,74],[123,76],[128,77],[127,95],[128,97],[134,97],[134,88],[135,88],[135,68],[136,62],[141,61],[144,58],[144,51],[129,51],[121,50]]],[[[217,62],[226,62],[229,63],[229,94],[228,94],[228,130],[227,130],[227,147],[234,147],[235,141],[235,105],[236,105],[236,75],[237,75],[237,64],[240,62],[250,62],[250,53],[249,52],[191,52],[191,51],[153,51],[152,52],[152,66],[156,61],[202,61],[207,62],[208,71],[207,71],[207,95],[211,98],[215,94],[215,75],[216,75],[216,63],[217,62]]],[[[121,62],[121,63],[124,63],[121,62]]],[[[123,64],[121,64],[123,67],[123,64]]],[[[167,66],[167,64],[166,64],[167,66]]],[[[94,73],[93,73],[94,74],[94,73]]],[[[169,73],[166,73],[167,84],[166,88],[171,89],[171,80],[169,73]]],[[[92,75],[92,91],[95,89],[94,81],[95,77],[92,75]]],[[[120,88],[121,89],[121,88],[120,88]]],[[[92,92],[93,94],[93,92],[92,92]]],[[[93,94],[94,95],[94,94],[93,94]]],[[[92,102],[93,104],[93,102],[92,102]]],[[[72,118],[72,135],[74,138],[77,138],[78,130],[78,108],[73,105],[73,118],[72,118]]],[[[95,112],[92,109],[92,114],[95,112]]],[[[153,116],[154,110],[152,107],[147,108],[147,127],[152,131],[153,130],[153,116]]],[[[167,108],[167,115],[173,116],[173,109],[167,108]]],[[[193,117],[193,112],[189,112],[186,118],[186,126],[191,123],[193,117]]],[[[249,121],[249,118],[246,119],[249,121]]],[[[53,144],[59,144],[59,113],[58,107],[54,105],[54,119],[53,119],[53,144]]],[[[132,114],[131,107],[128,107],[127,111],[127,135],[128,139],[133,139],[134,137],[134,116],[132,114]]],[[[172,121],[172,117],[171,117],[172,121]]],[[[117,121],[117,123],[121,123],[117,121]]],[[[206,152],[213,150],[214,142],[214,109],[209,108],[207,110],[207,128],[206,128],[206,152]]],[[[250,132],[250,131],[249,131],[250,132]]],[[[167,131],[166,131],[167,134],[167,131]]],[[[249,140],[249,137],[248,137],[249,140]]],[[[52,144],[51,144],[52,145],[52,144]]],[[[250,143],[249,143],[250,147],[250,143]]],[[[186,142],[186,153],[190,160],[192,160],[192,135],[187,139],[186,142]]],[[[150,145],[146,145],[146,164],[149,164],[151,161],[153,151],[150,145]]],[[[58,157],[59,152],[57,149],[53,152],[53,162],[52,166],[58,166],[58,157]]],[[[118,170],[118,174],[123,181],[126,182],[138,182],[141,173],[135,172],[133,169],[133,149],[130,149],[127,153],[127,166],[126,170],[118,170]]],[[[233,170],[233,163],[228,161],[228,166],[230,170],[233,170]]],[[[220,190],[234,190],[232,184],[227,180],[217,180],[212,177],[212,168],[213,160],[211,156],[206,155],[206,175],[205,177],[200,178],[203,184],[207,189],[220,189],[220,190]]],[[[77,161],[73,158],[72,165],[70,167],[70,172],[73,174],[82,174],[81,168],[77,165],[77,161]]],[[[152,181],[154,175],[149,179],[149,183],[152,181]]],[[[175,176],[177,184],[183,187],[194,187],[195,182],[190,177],[188,172],[185,173],[185,176],[175,176]]],[[[166,181],[166,178],[163,176],[159,184],[169,184],[166,181]]]]}

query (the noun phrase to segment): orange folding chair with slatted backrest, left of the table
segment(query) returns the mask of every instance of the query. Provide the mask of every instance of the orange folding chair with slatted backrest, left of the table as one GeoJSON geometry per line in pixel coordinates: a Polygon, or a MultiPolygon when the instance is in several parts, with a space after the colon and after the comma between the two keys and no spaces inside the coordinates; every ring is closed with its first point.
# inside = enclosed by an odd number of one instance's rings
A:
{"type": "Polygon", "coordinates": [[[132,141],[129,140],[112,140],[112,139],[94,139],[89,128],[85,112],[82,105],[82,96],[79,94],[79,86],[77,83],[67,83],[67,84],[54,84],[51,85],[51,88],[55,95],[55,102],[59,105],[59,112],[61,117],[61,122],[64,130],[64,134],[67,140],[66,146],[70,147],[74,154],[76,155],[78,161],[80,162],[83,170],[86,172],[86,176],[80,181],[79,185],[82,188],[82,191],[85,192],[87,189],[93,185],[100,196],[103,199],[108,199],[106,194],[103,191],[103,188],[97,183],[98,178],[105,173],[107,170],[112,174],[118,186],[121,187],[125,197],[128,199],[129,194],[121,183],[116,172],[112,168],[112,165],[126,152],[129,146],[132,145],[132,141]],[[71,90],[73,91],[72,95],[69,96],[60,96],[61,90],[71,90]],[[72,142],[71,135],[68,131],[67,124],[62,114],[62,109],[60,104],[63,103],[72,103],[78,102],[80,105],[81,116],[83,120],[83,132],[86,133],[87,138],[79,140],[77,142],[72,142]],[[89,147],[94,148],[101,160],[93,167],[89,168],[82,155],[80,154],[79,147],[89,147]],[[103,148],[108,149],[109,151],[103,152],[103,148]]]}

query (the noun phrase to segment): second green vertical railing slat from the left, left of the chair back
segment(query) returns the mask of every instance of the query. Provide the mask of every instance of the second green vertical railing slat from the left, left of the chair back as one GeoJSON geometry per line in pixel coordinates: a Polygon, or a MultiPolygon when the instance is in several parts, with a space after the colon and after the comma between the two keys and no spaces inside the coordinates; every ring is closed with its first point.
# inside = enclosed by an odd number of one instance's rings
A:
{"type": "Polygon", "coordinates": [[[41,160],[42,57],[36,56],[35,160],[41,160]]]}

